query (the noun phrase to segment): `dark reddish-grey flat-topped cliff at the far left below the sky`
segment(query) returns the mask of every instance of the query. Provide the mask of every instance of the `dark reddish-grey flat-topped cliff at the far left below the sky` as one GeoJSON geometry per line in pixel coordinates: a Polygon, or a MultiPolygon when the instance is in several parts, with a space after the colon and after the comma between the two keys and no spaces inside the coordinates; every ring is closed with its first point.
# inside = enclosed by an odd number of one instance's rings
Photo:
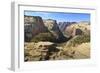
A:
{"type": "Polygon", "coordinates": [[[43,20],[39,16],[24,16],[24,32],[26,41],[29,41],[35,35],[46,32],[43,20]]]}

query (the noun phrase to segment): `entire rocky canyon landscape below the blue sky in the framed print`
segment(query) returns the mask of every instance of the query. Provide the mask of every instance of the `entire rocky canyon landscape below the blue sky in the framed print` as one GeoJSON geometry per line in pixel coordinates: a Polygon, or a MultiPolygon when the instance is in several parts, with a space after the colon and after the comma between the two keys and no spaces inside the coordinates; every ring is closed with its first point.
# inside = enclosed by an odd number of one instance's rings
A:
{"type": "Polygon", "coordinates": [[[24,16],[24,61],[90,58],[90,22],[24,16]]]}

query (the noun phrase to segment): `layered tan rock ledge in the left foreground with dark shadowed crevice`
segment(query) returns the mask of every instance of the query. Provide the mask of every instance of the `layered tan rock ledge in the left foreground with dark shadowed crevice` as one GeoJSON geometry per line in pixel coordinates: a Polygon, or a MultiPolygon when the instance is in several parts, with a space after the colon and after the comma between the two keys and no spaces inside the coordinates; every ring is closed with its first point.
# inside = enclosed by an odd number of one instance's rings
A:
{"type": "Polygon", "coordinates": [[[25,43],[25,61],[44,61],[55,59],[60,52],[52,42],[25,43]]]}

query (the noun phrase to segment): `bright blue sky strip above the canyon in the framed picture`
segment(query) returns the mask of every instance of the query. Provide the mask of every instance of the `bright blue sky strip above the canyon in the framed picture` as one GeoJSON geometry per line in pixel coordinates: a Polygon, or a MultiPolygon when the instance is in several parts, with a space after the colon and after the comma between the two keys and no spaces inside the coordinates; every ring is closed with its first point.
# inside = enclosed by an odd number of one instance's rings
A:
{"type": "Polygon", "coordinates": [[[54,19],[57,22],[81,22],[90,21],[90,14],[87,13],[63,13],[63,12],[36,12],[24,11],[24,15],[41,16],[42,19],[54,19]]]}

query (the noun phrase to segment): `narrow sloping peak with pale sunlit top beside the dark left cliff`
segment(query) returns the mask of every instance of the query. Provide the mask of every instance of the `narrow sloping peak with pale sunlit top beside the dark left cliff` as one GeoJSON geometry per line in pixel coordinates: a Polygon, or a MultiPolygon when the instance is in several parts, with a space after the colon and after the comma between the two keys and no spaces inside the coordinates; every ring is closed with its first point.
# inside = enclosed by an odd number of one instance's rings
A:
{"type": "Polygon", "coordinates": [[[56,37],[56,39],[58,39],[57,42],[66,39],[61,30],[59,29],[59,25],[57,24],[56,20],[47,19],[43,22],[44,25],[48,28],[48,30],[56,37]]]}

